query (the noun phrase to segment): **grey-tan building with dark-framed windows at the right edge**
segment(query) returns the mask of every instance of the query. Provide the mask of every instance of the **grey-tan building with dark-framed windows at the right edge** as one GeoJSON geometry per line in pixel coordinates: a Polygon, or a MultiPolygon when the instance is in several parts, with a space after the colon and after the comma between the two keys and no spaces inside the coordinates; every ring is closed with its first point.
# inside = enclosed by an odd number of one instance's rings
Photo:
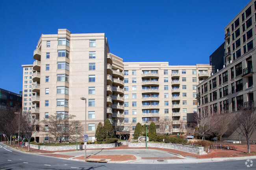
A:
{"type": "MultiPolygon", "coordinates": [[[[201,115],[231,113],[239,111],[240,106],[254,105],[255,9],[256,2],[249,2],[225,27],[224,68],[197,86],[198,113],[201,115]]],[[[238,139],[234,135],[229,137],[238,139]]]]}

